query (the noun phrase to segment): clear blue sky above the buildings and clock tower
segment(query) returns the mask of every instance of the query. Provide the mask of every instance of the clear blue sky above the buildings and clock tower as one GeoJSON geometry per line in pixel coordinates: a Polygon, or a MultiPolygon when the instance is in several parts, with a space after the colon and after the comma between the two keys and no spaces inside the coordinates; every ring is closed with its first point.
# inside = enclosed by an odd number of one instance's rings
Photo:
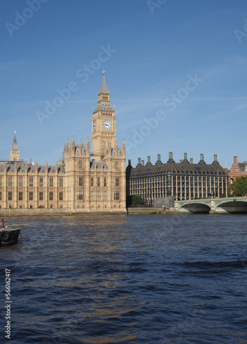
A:
{"type": "Polygon", "coordinates": [[[72,133],[92,147],[103,68],[133,166],[169,151],[247,160],[245,18],[246,0],[1,1],[0,160],[14,130],[20,158],[39,164],[56,164],[72,133]]]}

